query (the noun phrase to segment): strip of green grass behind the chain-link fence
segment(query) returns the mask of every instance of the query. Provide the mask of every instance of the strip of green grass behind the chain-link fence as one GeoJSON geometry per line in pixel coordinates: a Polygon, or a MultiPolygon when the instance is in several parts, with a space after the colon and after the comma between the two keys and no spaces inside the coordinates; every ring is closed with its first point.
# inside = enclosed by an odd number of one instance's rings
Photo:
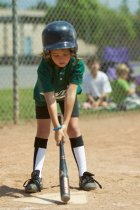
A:
{"type": "MultiPolygon", "coordinates": [[[[78,95],[79,105],[86,100],[85,94],[78,95]]],[[[81,107],[81,106],[80,106],[81,107]]],[[[135,111],[140,109],[135,109],[135,111]]],[[[128,112],[128,111],[127,111],[128,112]]],[[[118,113],[114,110],[83,110],[80,108],[80,114],[86,116],[103,116],[109,113],[118,113]]],[[[121,112],[122,113],[122,112],[121,112]]],[[[19,120],[35,119],[33,89],[19,90],[19,120]]],[[[13,121],[13,91],[12,89],[0,90],[0,123],[13,121]]]]}

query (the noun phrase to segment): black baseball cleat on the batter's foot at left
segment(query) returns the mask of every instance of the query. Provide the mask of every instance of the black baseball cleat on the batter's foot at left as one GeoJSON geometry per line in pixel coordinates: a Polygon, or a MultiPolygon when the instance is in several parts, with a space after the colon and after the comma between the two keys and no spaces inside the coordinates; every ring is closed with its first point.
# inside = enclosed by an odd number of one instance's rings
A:
{"type": "Polygon", "coordinates": [[[31,179],[28,179],[23,184],[25,187],[25,192],[27,193],[36,193],[40,192],[43,188],[42,178],[39,177],[39,170],[34,170],[31,174],[31,179]]]}

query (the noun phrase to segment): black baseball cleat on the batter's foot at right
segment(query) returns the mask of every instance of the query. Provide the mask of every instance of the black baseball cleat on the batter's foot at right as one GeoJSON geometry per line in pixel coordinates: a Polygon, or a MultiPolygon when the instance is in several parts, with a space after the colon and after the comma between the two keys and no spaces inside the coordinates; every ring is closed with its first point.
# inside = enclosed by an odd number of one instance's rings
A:
{"type": "Polygon", "coordinates": [[[80,189],[85,191],[95,190],[97,188],[97,184],[100,188],[102,188],[99,182],[93,178],[93,176],[94,174],[90,172],[87,171],[84,172],[83,176],[80,177],[80,182],[79,182],[80,189]]]}

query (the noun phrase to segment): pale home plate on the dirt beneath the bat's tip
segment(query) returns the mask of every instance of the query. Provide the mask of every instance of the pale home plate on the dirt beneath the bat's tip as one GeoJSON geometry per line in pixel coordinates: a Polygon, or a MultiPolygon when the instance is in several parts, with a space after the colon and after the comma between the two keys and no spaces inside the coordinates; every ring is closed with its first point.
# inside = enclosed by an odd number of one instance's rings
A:
{"type": "MultiPolygon", "coordinates": [[[[31,194],[30,197],[16,198],[15,201],[38,203],[38,204],[62,204],[60,193],[47,193],[44,195],[31,194]]],[[[87,203],[85,192],[71,192],[69,204],[85,204],[87,203]]]]}

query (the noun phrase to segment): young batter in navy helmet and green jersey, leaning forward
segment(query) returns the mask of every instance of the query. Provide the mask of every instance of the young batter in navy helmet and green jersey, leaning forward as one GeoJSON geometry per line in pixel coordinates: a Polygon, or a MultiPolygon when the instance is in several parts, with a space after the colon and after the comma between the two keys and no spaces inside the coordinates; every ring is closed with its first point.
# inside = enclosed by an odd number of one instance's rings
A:
{"type": "Polygon", "coordinates": [[[50,134],[50,125],[56,144],[59,145],[67,132],[72,152],[79,171],[79,187],[96,189],[93,174],[87,172],[84,142],[79,128],[77,94],[84,64],[77,58],[77,41],[74,27],[66,21],[49,23],[42,32],[43,56],[38,67],[38,78],[34,88],[37,133],[34,142],[34,162],[31,179],[24,183],[27,193],[41,191],[42,168],[50,134]],[[58,121],[57,103],[63,114],[63,124],[58,121]]]}

